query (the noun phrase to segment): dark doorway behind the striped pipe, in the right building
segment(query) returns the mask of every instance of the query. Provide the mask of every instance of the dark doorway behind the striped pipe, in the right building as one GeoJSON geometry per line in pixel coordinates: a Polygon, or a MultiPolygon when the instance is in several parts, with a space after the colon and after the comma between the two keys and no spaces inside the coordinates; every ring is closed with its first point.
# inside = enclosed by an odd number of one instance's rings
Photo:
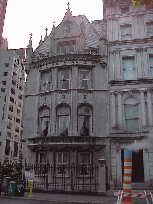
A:
{"type": "MultiPolygon", "coordinates": [[[[122,180],[124,175],[124,150],[121,150],[122,180]]],[[[132,182],[144,182],[143,150],[132,151],[132,182]]]]}

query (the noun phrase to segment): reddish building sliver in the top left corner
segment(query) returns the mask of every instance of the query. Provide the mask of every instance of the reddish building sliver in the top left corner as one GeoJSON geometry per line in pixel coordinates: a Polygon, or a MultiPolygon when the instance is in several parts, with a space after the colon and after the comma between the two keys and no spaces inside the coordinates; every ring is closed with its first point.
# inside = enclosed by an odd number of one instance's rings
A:
{"type": "Polygon", "coordinates": [[[6,13],[6,6],[7,6],[7,0],[1,0],[0,1],[0,47],[3,43],[2,33],[3,33],[3,26],[4,26],[4,19],[5,19],[5,13],[6,13]]]}

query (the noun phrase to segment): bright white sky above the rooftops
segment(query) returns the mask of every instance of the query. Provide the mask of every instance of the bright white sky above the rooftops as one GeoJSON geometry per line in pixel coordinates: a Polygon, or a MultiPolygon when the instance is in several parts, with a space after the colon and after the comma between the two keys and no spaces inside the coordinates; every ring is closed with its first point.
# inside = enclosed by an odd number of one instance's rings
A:
{"type": "Polygon", "coordinates": [[[58,26],[62,21],[67,3],[73,16],[86,15],[88,20],[103,18],[102,0],[8,0],[3,28],[3,37],[8,40],[9,49],[26,48],[33,34],[33,48],[39,45],[41,35],[48,35],[53,22],[58,26]]]}

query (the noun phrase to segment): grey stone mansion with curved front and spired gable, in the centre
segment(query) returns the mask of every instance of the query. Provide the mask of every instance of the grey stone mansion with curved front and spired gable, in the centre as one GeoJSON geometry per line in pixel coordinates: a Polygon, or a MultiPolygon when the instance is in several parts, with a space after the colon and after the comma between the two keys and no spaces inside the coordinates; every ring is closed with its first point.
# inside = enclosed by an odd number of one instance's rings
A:
{"type": "Polygon", "coordinates": [[[90,23],[84,15],[72,16],[68,5],[62,22],[53,25],[49,36],[46,32],[34,52],[30,37],[24,111],[26,162],[59,167],[59,177],[61,165],[82,165],[88,174],[98,159],[109,162],[105,35],[104,21],[90,23]]]}

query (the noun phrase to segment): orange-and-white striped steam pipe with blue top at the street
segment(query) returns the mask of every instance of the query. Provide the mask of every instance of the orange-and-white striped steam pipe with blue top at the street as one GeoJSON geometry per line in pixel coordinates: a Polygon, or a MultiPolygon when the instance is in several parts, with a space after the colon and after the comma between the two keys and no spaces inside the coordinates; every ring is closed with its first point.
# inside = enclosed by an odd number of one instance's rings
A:
{"type": "MultiPolygon", "coordinates": [[[[124,150],[123,193],[131,193],[132,151],[124,150]]],[[[122,197],[122,204],[132,204],[131,197],[122,197]]]]}

